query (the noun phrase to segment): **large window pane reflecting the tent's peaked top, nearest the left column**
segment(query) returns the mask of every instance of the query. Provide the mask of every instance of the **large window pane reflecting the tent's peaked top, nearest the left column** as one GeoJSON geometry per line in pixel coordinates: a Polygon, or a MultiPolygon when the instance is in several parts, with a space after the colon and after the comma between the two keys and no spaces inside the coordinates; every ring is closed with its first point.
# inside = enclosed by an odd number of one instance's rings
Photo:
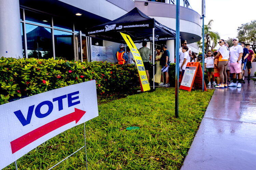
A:
{"type": "Polygon", "coordinates": [[[51,29],[26,24],[26,35],[29,58],[53,57],[51,29]]]}

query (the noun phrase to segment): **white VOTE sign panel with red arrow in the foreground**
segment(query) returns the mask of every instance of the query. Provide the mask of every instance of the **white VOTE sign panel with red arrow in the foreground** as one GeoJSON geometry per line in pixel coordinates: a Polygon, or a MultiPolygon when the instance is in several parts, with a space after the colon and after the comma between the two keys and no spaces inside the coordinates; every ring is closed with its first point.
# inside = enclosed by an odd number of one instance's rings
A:
{"type": "Polygon", "coordinates": [[[0,169],[97,116],[95,80],[0,105],[0,169]]]}

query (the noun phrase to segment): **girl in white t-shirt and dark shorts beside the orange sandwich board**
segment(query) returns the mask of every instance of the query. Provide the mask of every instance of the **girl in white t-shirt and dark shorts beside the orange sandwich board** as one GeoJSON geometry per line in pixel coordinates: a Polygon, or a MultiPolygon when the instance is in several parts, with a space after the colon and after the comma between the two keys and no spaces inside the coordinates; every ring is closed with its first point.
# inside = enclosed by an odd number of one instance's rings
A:
{"type": "Polygon", "coordinates": [[[207,52],[207,56],[204,59],[204,63],[205,63],[204,71],[207,71],[207,74],[208,74],[208,80],[209,80],[208,86],[211,86],[212,84],[214,86],[217,85],[215,83],[215,78],[214,78],[214,56],[211,50],[207,52]],[[211,75],[212,75],[212,83],[211,83],[211,75]]]}

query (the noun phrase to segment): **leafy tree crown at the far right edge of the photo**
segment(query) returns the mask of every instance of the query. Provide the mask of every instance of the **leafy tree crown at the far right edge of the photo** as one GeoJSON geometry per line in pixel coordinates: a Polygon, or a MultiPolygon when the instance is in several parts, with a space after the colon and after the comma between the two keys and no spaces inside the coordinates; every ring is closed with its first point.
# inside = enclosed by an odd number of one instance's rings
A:
{"type": "Polygon", "coordinates": [[[237,31],[239,41],[251,44],[253,51],[256,52],[256,20],[242,24],[237,31]]]}

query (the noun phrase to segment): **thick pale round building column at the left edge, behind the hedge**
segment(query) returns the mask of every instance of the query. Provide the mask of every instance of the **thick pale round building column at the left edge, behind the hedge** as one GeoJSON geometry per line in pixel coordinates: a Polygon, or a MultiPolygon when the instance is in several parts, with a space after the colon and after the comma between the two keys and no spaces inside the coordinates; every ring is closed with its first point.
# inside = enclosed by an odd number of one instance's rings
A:
{"type": "Polygon", "coordinates": [[[0,57],[23,58],[19,0],[1,0],[0,4],[0,57]]]}

